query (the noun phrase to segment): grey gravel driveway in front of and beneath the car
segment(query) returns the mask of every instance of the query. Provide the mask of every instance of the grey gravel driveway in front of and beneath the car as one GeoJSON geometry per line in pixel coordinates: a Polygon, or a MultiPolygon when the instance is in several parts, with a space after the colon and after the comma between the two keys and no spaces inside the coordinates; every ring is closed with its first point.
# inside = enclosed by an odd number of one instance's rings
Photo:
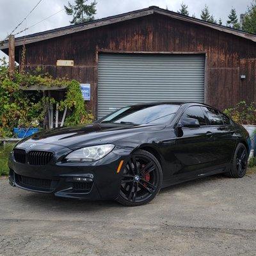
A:
{"type": "Polygon", "coordinates": [[[148,205],[54,198],[0,180],[0,255],[256,255],[256,174],[163,189],[148,205]]]}

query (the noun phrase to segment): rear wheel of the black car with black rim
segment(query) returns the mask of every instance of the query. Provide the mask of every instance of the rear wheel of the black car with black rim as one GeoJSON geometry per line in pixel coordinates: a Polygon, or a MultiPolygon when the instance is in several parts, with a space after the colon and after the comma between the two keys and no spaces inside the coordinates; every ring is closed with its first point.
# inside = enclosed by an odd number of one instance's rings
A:
{"type": "Polygon", "coordinates": [[[248,152],[243,143],[238,143],[231,163],[230,171],[227,173],[231,178],[243,178],[248,163],[248,152]]]}

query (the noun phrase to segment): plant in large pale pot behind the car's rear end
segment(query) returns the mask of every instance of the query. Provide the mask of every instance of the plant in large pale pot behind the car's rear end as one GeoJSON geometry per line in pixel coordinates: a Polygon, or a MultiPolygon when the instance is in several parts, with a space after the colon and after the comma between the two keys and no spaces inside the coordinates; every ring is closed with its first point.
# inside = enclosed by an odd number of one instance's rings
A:
{"type": "Polygon", "coordinates": [[[256,152],[256,104],[246,104],[245,101],[241,101],[236,104],[234,108],[225,109],[224,113],[230,116],[235,122],[243,125],[246,131],[250,134],[252,141],[252,154],[256,152]]]}

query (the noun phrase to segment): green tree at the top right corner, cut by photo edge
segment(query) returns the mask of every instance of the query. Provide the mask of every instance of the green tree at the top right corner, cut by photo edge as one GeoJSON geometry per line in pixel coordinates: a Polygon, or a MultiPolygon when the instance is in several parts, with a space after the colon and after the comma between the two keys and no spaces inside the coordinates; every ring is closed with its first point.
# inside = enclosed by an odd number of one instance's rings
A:
{"type": "Polygon", "coordinates": [[[244,15],[243,19],[243,30],[256,34],[256,0],[253,0],[250,7],[248,7],[248,12],[244,15]]]}

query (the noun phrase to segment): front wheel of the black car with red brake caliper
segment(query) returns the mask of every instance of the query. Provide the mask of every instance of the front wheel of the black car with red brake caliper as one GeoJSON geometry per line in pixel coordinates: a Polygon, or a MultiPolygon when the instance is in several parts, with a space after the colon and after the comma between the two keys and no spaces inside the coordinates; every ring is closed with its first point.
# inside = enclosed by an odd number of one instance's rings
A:
{"type": "Polygon", "coordinates": [[[137,150],[125,165],[116,201],[125,206],[147,204],[156,197],[162,183],[163,172],[156,157],[137,150]]]}

